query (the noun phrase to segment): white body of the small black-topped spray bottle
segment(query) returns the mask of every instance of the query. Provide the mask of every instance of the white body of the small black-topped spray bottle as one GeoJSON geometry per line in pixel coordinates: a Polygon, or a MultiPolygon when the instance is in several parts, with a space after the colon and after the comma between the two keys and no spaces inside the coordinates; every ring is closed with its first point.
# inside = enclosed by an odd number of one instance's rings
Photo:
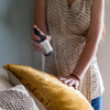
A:
{"type": "Polygon", "coordinates": [[[47,40],[41,42],[40,44],[43,45],[45,54],[48,54],[50,52],[53,52],[53,48],[52,48],[52,46],[51,46],[51,44],[47,40]]]}

